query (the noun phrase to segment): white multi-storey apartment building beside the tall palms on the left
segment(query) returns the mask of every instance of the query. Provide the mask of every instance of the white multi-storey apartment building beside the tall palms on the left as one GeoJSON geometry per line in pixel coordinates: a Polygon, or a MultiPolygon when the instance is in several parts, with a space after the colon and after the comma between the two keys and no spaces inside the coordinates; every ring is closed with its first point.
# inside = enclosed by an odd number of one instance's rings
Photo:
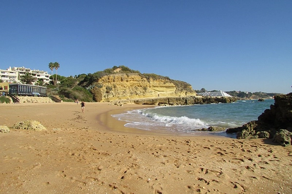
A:
{"type": "Polygon", "coordinates": [[[39,79],[43,79],[44,83],[49,83],[50,81],[49,77],[51,75],[48,74],[47,71],[31,70],[25,67],[9,67],[6,70],[0,69],[0,80],[10,83],[20,83],[20,77],[25,74],[25,72],[31,73],[32,76],[36,78],[36,81],[39,79]]]}

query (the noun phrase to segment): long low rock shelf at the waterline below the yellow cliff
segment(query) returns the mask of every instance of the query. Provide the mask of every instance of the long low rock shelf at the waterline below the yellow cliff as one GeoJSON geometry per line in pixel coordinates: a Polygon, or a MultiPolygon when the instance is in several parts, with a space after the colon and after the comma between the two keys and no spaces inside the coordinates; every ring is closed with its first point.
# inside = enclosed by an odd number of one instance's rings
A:
{"type": "Polygon", "coordinates": [[[236,97],[148,97],[137,99],[114,100],[111,104],[144,104],[158,106],[175,106],[175,105],[193,105],[193,104],[209,104],[209,103],[230,103],[235,102],[236,97]]]}

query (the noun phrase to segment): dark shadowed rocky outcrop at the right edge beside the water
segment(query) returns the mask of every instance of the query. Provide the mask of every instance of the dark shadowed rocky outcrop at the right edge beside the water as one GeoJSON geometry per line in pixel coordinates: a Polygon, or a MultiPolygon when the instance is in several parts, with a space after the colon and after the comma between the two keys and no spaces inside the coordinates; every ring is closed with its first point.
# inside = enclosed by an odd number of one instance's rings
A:
{"type": "Polygon", "coordinates": [[[274,105],[271,105],[270,109],[266,109],[257,118],[257,121],[251,121],[242,127],[227,129],[226,132],[236,132],[238,139],[273,138],[275,142],[280,143],[282,146],[291,145],[292,93],[277,95],[274,100],[274,105]]]}

